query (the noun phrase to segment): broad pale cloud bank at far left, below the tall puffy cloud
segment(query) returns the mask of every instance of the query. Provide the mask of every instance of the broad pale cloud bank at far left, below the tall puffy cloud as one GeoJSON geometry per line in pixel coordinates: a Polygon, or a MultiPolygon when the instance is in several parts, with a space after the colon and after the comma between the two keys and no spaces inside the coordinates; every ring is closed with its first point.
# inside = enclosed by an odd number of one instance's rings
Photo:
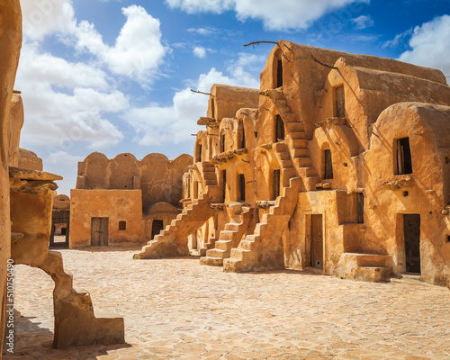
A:
{"type": "Polygon", "coordinates": [[[123,138],[102,114],[123,111],[128,99],[94,65],[71,63],[28,44],[23,47],[15,87],[22,90],[21,140],[27,146],[67,151],[86,141],[91,148],[105,148],[123,138]]]}

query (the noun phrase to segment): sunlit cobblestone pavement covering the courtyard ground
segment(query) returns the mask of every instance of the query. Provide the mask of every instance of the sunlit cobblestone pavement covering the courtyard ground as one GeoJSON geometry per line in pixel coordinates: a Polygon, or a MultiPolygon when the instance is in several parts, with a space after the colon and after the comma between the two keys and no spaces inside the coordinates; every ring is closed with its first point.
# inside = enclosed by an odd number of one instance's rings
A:
{"type": "Polygon", "coordinates": [[[450,291],[281,271],[227,274],[196,258],[63,250],[94,310],[125,319],[127,344],[55,350],[52,288],[16,266],[14,355],[4,359],[450,359],[450,291]]]}

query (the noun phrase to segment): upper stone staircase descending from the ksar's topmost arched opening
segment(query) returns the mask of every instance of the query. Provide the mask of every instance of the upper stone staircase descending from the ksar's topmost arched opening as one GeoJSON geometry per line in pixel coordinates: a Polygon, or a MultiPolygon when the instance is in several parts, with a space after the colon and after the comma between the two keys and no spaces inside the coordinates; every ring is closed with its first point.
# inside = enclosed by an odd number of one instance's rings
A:
{"type": "Polygon", "coordinates": [[[303,123],[297,119],[297,116],[287,104],[282,90],[266,90],[263,94],[272,99],[284,121],[286,143],[288,148],[291,149],[293,165],[298,174],[302,176],[306,191],[315,190],[315,184],[320,182],[320,176],[311,163],[310,149],[308,148],[310,141],[306,139],[303,123]]]}

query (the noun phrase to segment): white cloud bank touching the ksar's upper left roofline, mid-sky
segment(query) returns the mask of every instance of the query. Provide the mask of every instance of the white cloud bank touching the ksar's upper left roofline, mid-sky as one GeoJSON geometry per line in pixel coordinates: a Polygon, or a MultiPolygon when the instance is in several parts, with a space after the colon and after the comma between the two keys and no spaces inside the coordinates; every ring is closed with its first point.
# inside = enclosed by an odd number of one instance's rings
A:
{"type": "MultiPolygon", "coordinates": [[[[258,70],[264,64],[265,57],[239,54],[236,61],[229,63],[228,75],[212,67],[207,74],[199,76],[193,88],[209,93],[213,84],[238,85],[259,88],[258,70]]],[[[136,130],[140,145],[178,144],[190,139],[198,126],[196,121],[205,116],[208,98],[193,94],[185,88],[175,94],[171,106],[160,107],[149,104],[144,108],[134,108],[124,115],[124,119],[136,130]]]]}

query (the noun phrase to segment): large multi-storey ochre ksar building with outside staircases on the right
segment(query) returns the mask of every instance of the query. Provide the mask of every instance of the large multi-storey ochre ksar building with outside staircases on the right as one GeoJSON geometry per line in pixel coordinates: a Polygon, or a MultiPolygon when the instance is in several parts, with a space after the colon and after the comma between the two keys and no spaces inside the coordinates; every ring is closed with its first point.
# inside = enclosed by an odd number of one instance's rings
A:
{"type": "Polygon", "coordinates": [[[184,211],[138,257],[450,285],[450,88],[437,69],[280,40],[214,85],[184,211]]]}

